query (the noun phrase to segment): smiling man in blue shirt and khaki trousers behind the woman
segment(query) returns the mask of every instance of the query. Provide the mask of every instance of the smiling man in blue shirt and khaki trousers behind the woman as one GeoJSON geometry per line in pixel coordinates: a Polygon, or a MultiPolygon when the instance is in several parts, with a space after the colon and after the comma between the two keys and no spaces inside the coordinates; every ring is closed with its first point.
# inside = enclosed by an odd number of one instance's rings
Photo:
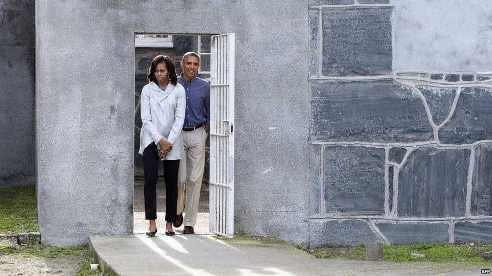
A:
{"type": "Polygon", "coordinates": [[[182,132],[184,152],[179,161],[177,216],[174,227],[179,227],[184,222],[183,234],[194,234],[205,167],[205,140],[210,130],[210,84],[197,77],[200,68],[200,56],[197,53],[184,54],[180,65],[183,73],[177,78],[177,82],[186,92],[186,114],[182,132]]]}

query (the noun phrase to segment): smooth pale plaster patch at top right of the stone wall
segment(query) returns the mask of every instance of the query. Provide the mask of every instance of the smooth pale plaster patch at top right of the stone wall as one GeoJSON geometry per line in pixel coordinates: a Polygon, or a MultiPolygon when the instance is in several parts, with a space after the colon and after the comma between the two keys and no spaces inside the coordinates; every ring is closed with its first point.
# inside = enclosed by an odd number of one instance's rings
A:
{"type": "Polygon", "coordinates": [[[394,70],[492,71],[492,5],[395,1],[394,70]]]}

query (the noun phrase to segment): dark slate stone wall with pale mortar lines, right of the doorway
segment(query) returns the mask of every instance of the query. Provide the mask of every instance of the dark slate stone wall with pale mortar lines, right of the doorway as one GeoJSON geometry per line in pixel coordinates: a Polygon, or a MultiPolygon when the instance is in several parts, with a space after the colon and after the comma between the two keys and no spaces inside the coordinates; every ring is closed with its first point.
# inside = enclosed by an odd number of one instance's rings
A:
{"type": "Polygon", "coordinates": [[[492,242],[492,74],[395,70],[398,5],[310,1],[310,247],[492,242]]]}

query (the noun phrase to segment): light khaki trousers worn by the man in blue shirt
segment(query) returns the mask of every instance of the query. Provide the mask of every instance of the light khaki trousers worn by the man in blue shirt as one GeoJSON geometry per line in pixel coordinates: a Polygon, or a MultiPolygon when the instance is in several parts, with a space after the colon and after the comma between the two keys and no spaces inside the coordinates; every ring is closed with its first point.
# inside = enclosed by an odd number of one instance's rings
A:
{"type": "Polygon", "coordinates": [[[181,161],[179,161],[176,214],[181,214],[184,209],[184,226],[195,227],[197,222],[198,202],[205,167],[205,140],[207,140],[207,132],[203,127],[194,131],[183,131],[184,150],[181,161]],[[186,200],[184,199],[185,189],[186,200]]]}

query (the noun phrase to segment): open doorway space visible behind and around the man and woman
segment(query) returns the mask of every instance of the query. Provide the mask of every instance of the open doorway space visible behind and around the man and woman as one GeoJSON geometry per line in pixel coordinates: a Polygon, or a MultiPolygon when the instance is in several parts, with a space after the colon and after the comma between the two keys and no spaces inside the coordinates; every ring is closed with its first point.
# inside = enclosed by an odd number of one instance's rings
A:
{"type": "MultiPolygon", "coordinates": [[[[182,72],[179,62],[184,53],[193,51],[200,55],[200,69],[197,76],[210,82],[210,35],[168,35],[168,34],[135,34],[135,131],[134,131],[134,229],[135,234],[148,230],[144,209],[144,171],[140,148],[140,93],[143,86],[148,84],[147,72],[152,58],[156,55],[171,57],[179,76],[182,72]]],[[[209,232],[209,167],[210,167],[210,138],[205,146],[205,169],[200,193],[198,218],[195,233],[209,232]]],[[[165,183],[162,163],[159,163],[157,181],[157,228],[164,229],[165,221],[165,183]]],[[[181,231],[183,225],[175,230],[181,231]]]]}

